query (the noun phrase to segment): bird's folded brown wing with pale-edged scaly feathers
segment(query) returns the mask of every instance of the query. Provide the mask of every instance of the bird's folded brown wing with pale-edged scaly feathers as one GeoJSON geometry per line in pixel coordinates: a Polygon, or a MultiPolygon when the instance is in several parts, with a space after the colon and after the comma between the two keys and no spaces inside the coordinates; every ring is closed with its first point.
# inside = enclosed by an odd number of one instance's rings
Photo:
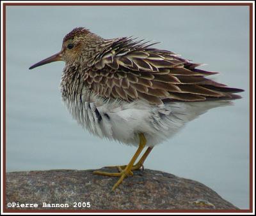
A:
{"type": "Polygon", "coordinates": [[[150,45],[132,38],[106,41],[102,52],[88,62],[88,87],[105,98],[145,99],[151,104],[232,99],[232,93],[243,91],[206,78],[216,73],[196,69],[200,64],[150,45]]]}

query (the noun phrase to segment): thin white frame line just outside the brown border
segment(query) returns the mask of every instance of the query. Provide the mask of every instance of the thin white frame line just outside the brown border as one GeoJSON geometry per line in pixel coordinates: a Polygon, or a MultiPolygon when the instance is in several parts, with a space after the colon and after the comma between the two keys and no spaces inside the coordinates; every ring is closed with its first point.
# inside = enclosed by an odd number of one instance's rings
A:
{"type": "Polygon", "coordinates": [[[255,2],[254,1],[1,1],[1,191],[3,191],[3,3],[252,3],[253,4],[253,213],[3,213],[1,192],[1,214],[3,215],[254,215],[255,213],[255,2]]]}

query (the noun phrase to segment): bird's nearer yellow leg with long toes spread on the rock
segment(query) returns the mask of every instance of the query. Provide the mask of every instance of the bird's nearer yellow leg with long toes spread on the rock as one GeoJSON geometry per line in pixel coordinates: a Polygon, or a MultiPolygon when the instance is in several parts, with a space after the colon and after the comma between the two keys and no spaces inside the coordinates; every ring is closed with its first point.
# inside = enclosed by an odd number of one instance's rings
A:
{"type": "Polygon", "coordinates": [[[120,169],[120,173],[107,173],[107,172],[102,172],[102,171],[94,171],[93,172],[93,174],[97,174],[97,175],[120,176],[119,180],[116,182],[116,184],[112,188],[113,191],[116,189],[116,187],[118,187],[118,185],[120,185],[122,183],[122,181],[124,180],[124,178],[126,176],[133,174],[131,171],[133,164],[136,161],[136,159],[139,157],[140,153],[142,152],[143,148],[145,148],[145,145],[147,143],[147,140],[142,133],[139,134],[139,136],[140,136],[140,145],[139,145],[138,149],[136,150],[136,152],[133,155],[129,164],[127,166],[125,166],[124,169],[120,169]]]}

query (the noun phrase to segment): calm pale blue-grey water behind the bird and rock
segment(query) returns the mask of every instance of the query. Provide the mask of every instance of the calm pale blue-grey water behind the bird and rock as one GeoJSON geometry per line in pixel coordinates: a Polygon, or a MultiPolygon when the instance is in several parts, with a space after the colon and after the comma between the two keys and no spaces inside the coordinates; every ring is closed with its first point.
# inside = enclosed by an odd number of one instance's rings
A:
{"type": "Polygon", "coordinates": [[[6,10],[7,171],[96,169],[126,164],[135,152],[77,125],[61,103],[63,62],[28,70],[83,26],[104,38],[161,41],[216,80],[239,87],[234,106],[209,110],[158,145],[145,168],[202,182],[239,208],[249,190],[249,10],[246,6],[8,6],[6,10]]]}

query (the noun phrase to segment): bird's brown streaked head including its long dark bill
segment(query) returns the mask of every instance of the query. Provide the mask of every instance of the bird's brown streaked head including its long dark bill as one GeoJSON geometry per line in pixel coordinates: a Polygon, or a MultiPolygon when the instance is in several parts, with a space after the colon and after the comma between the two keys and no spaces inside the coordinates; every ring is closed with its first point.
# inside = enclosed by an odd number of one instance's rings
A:
{"type": "Polygon", "coordinates": [[[29,69],[55,61],[64,61],[66,64],[72,64],[72,62],[79,60],[88,61],[99,51],[99,44],[103,41],[103,38],[93,34],[88,29],[77,27],[64,37],[60,52],[33,64],[29,69]]]}

